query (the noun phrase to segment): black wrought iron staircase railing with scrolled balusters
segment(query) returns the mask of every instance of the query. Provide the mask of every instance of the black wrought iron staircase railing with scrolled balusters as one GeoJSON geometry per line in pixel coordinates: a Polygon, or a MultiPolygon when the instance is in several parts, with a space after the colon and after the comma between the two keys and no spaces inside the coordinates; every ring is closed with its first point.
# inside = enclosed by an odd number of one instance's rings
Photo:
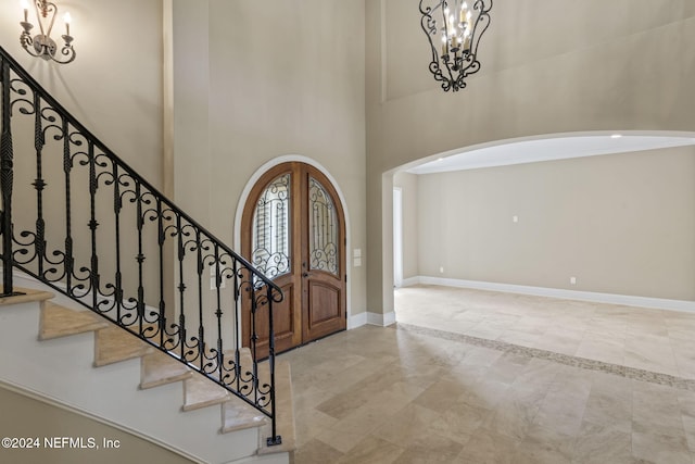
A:
{"type": "Polygon", "coordinates": [[[2,48],[0,86],[2,294],[15,293],[13,268],[25,272],[263,412],[268,446],[279,444],[280,288],[117,158],[2,48]],[[251,313],[249,340],[242,310],[251,313]],[[257,333],[257,317],[267,334],[257,333]],[[269,338],[263,380],[261,335],[269,338]],[[240,364],[242,347],[252,351],[250,368],[240,364]]]}

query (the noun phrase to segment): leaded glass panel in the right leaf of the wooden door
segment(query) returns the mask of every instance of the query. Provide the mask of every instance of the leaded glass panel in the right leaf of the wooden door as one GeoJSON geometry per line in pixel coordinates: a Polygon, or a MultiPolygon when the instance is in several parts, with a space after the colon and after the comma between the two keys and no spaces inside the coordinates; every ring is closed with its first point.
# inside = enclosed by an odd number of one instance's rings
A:
{"type": "Polygon", "coordinates": [[[309,268],[339,275],[339,227],[336,205],[324,186],[308,181],[309,268]]]}

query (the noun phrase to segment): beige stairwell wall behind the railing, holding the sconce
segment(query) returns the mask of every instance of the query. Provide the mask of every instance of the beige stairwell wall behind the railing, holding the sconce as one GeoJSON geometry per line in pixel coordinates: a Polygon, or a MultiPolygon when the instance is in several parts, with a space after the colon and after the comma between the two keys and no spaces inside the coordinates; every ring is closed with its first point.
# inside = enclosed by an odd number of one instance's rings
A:
{"type": "MultiPolygon", "coordinates": [[[[28,73],[41,84],[68,112],[109,149],[140,173],[154,187],[162,186],[163,156],[163,91],[162,91],[162,1],[126,0],[117,2],[60,1],[59,17],[53,36],[59,45],[64,34],[63,13],[73,17],[71,33],[75,37],[76,60],[56,64],[28,55],[20,47],[20,2],[7,1],[0,5],[0,45],[12,54],[28,73]],[[134,34],[132,32],[137,32],[134,34]]],[[[38,23],[30,12],[29,21],[38,23]]],[[[31,229],[36,220],[36,192],[30,184],[36,178],[33,116],[15,112],[13,142],[15,158],[14,224],[17,230],[31,229]],[[24,120],[23,123],[20,123],[24,120]],[[26,221],[24,221],[26,220],[26,221]]],[[[43,120],[48,125],[48,120],[43,120]]],[[[43,175],[48,187],[43,191],[45,217],[49,254],[65,243],[65,187],[63,179],[63,141],[49,130],[43,148],[43,175]]],[[[75,139],[79,139],[75,137],[75,139]]],[[[86,147],[83,146],[83,150],[86,147]]],[[[80,150],[73,146],[73,153],[80,150]]],[[[90,265],[91,231],[88,228],[89,180],[88,166],[80,165],[85,158],[75,155],[72,171],[72,236],[75,244],[75,266],[90,265]]],[[[113,281],[115,269],[115,233],[113,192],[105,185],[97,195],[98,253],[100,274],[113,281]]],[[[122,215],[121,246],[123,260],[135,266],[138,238],[135,231],[134,203],[125,202],[129,211],[122,215]],[[128,216],[128,218],[126,218],[128,216]],[[125,225],[129,226],[126,230],[125,225]]],[[[154,230],[156,234],[156,230],[154,230]]],[[[156,235],[154,235],[156,238],[156,235]]],[[[146,238],[149,248],[155,241],[146,238]]],[[[156,260],[147,261],[144,279],[152,289],[146,298],[156,304],[154,294],[157,275],[156,260]]],[[[124,272],[124,285],[129,296],[137,294],[137,272],[124,272]]],[[[84,277],[85,273],[80,273],[84,277]]],[[[103,291],[106,291],[102,288],[103,291]]]]}

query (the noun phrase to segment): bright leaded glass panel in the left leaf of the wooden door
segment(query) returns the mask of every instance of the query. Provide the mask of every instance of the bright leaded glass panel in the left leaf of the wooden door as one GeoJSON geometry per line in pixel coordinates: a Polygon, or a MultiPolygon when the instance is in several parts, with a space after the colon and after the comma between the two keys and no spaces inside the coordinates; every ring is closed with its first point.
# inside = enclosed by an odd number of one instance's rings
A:
{"type": "Polygon", "coordinates": [[[251,260],[263,274],[275,278],[290,272],[290,175],[266,186],[253,213],[251,260]]]}

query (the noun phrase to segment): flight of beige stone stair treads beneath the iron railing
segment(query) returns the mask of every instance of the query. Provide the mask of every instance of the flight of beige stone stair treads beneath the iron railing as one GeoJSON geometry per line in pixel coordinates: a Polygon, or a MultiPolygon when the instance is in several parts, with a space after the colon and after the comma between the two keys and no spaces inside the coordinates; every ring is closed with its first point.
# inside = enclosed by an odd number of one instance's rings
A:
{"type": "MultiPolygon", "coordinates": [[[[0,297],[0,305],[38,302],[40,308],[39,340],[50,340],[93,331],[94,367],[140,358],[141,389],[150,389],[164,384],[182,380],[185,394],[185,404],[182,409],[185,411],[195,410],[213,404],[220,404],[223,421],[222,427],[218,429],[220,434],[247,434],[242,435],[243,437],[247,437],[243,441],[244,443],[252,444],[255,443],[256,438],[260,439],[257,449],[255,448],[255,444],[253,444],[253,452],[256,453],[256,456],[261,454],[267,455],[280,453],[278,455],[289,455],[291,462],[295,446],[295,438],[291,378],[288,363],[279,362],[276,364],[277,434],[282,437],[282,443],[279,446],[268,447],[266,444],[266,440],[267,437],[271,436],[270,418],[237,398],[225,388],[195,374],[194,369],[191,369],[179,361],[161,352],[155,347],[138,339],[134,334],[117,327],[90,311],[76,311],[48,301],[54,297],[50,291],[18,288],[16,291],[23,292],[24,294],[15,294],[4,298],[0,297]],[[251,429],[257,429],[257,431],[253,430],[252,436],[248,435],[252,432],[251,429]],[[253,438],[250,439],[251,437],[253,438]]],[[[21,313],[24,314],[23,312],[21,313]]],[[[36,324],[36,319],[34,321],[34,324],[36,324]]],[[[89,341],[84,338],[76,340],[81,340],[83,342],[89,341]]],[[[165,342],[165,344],[167,343],[165,342]]],[[[56,347],[65,348],[62,344],[56,347]]],[[[226,359],[233,360],[235,354],[236,353],[233,351],[226,352],[226,359]]],[[[241,366],[241,375],[248,377],[244,374],[252,372],[254,368],[253,359],[249,349],[240,349],[239,364],[241,366]]],[[[135,364],[129,364],[129,368],[130,371],[136,368],[135,364]]],[[[111,374],[114,373],[109,369],[106,369],[106,372],[111,374]]],[[[257,364],[257,374],[261,385],[268,383],[269,373],[267,362],[257,364]]],[[[149,394],[155,393],[156,392],[151,392],[149,394]]],[[[143,392],[142,394],[146,393],[143,392]]],[[[201,411],[201,413],[203,412],[201,411]]],[[[217,417],[217,421],[219,419],[218,414],[213,415],[217,417]]],[[[237,440],[237,435],[233,436],[233,439],[237,440]]],[[[264,457],[263,460],[267,459],[273,460],[273,457],[269,456],[264,457]]]]}

